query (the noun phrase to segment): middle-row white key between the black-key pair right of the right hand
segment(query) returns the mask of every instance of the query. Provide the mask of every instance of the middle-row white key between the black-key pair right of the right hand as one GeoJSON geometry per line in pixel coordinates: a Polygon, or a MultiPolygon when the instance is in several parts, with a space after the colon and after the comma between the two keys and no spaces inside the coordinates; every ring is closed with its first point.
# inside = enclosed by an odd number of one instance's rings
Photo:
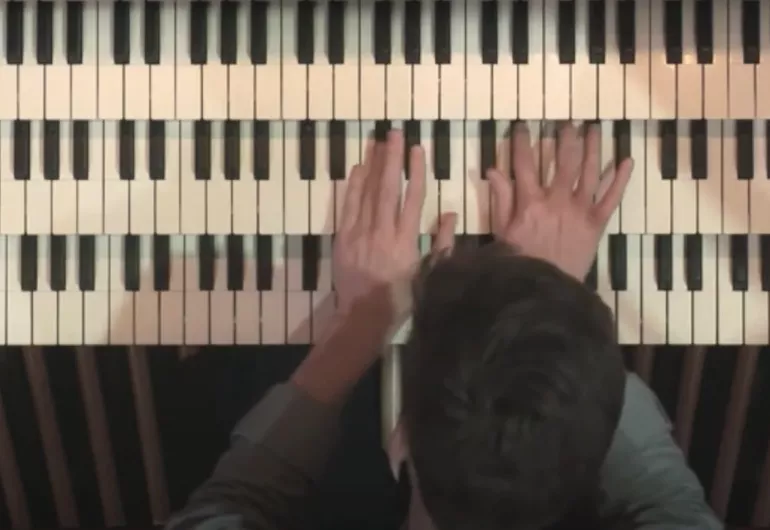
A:
{"type": "Polygon", "coordinates": [[[677,175],[671,181],[671,227],[675,234],[698,231],[698,181],[692,178],[690,122],[677,121],[677,175]]]}

